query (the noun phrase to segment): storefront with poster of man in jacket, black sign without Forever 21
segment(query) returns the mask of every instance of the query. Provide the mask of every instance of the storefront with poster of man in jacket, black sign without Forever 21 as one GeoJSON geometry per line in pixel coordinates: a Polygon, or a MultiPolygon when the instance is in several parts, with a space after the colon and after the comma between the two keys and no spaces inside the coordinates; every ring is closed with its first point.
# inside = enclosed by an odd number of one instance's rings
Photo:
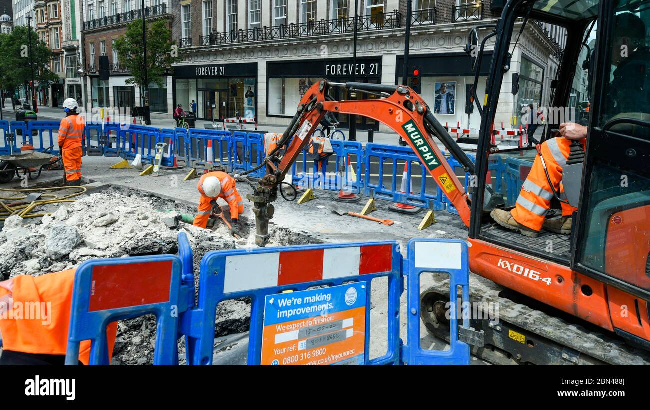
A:
{"type": "MultiPolygon", "coordinates": [[[[486,76],[492,52],[486,51],[480,67],[476,92],[485,95],[486,76]]],[[[421,95],[443,125],[460,124],[461,127],[478,128],[478,113],[467,114],[467,95],[474,86],[473,60],[465,53],[411,54],[409,66],[418,67],[422,76],[421,95]]],[[[402,84],[404,56],[397,58],[397,84],[402,84]]],[[[411,69],[412,69],[411,68],[411,69]]]]}

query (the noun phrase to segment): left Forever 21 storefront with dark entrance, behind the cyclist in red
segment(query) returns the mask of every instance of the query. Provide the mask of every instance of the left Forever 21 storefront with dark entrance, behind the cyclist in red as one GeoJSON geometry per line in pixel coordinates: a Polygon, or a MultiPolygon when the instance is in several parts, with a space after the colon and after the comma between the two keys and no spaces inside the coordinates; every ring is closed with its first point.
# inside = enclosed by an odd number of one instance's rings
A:
{"type": "Polygon", "coordinates": [[[199,119],[257,116],[257,63],[174,67],[174,104],[199,119]]]}

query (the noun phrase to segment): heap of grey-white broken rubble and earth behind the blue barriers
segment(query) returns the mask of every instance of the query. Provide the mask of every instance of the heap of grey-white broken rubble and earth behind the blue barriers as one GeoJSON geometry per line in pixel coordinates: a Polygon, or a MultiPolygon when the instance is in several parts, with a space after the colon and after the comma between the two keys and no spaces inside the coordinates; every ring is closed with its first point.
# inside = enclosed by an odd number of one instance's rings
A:
{"type": "MultiPolygon", "coordinates": [[[[223,223],[216,224],[214,229],[202,229],[175,222],[175,213],[196,213],[196,206],[183,200],[113,184],[105,184],[75,199],[70,204],[49,206],[47,211],[53,212],[51,216],[23,220],[14,215],[6,220],[0,232],[0,280],[18,274],[38,276],[72,269],[93,258],[176,254],[177,235],[183,231],[194,251],[198,296],[200,261],[207,252],[257,247],[253,221],[245,218],[240,219],[244,237],[239,240],[230,235],[223,223]]],[[[274,225],[270,226],[270,234],[268,246],[322,242],[274,225]]],[[[249,298],[221,302],[215,337],[249,330],[250,307],[249,298]]],[[[111,363],[153,363],[155,328],[153,315],[120,320],[111,363]]],[[[183,357],[185,340],[179,339],[178,343],[183,357]]]]}

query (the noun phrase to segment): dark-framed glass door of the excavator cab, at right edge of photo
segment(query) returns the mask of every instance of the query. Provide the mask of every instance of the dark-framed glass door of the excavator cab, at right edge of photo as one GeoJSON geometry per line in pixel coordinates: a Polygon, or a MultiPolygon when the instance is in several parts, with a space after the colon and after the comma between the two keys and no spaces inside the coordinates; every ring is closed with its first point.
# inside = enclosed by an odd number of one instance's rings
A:
{"type": "MultiPolygon", "coordinates": [[[[650,300],[650,0],[604,1],[598,24],[571,267],[640,296],[647,309],[643,299],[650,300]]],[[[640,302],[635,302],[639,314],[644,310],[640,302]]]]}

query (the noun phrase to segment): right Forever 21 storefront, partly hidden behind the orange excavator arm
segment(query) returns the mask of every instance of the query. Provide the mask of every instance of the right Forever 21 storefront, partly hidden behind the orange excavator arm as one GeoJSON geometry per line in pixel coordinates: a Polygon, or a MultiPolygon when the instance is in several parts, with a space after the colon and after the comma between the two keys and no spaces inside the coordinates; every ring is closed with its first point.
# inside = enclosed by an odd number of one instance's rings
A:
{"type": "MultiPolygon", "coordinates": [[[[382,80],[382,58],[357,58],[356,66],[352,58],[345,60],[305,60],[300,62],[269,62],[266,66],[268,83],[266,85],[266,116],[290,118],[295,114],[298,103],[313,84],[323,78],[333,82],[352,80],[379,84],[382,80]]],[[[335,88],[331,91],[335,99],[347,99],[347,90],[335,88]]],[[[367,98],[357,93],[357,99],[367,98]]],[[[372,98],[372,97],[371,97],[372,98]]],[[[348,115],[339,114],[339,127],[349,128],[348,115]]],[[[357,115],[357,128],[378,130],[374,119],[357,115]]]]}

